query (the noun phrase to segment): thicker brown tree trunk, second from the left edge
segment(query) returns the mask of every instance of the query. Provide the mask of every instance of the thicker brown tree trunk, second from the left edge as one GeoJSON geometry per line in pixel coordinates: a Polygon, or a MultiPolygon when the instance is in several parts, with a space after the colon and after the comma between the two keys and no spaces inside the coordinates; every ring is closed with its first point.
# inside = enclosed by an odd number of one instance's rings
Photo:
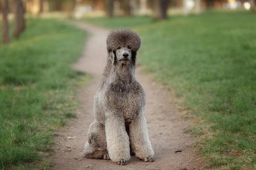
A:
{"type": "Polygon", "coordinates": [[[22,0],[15,0],[14,30],[13,36],[18,37],[25,29],[24,8],[22,0]]]}

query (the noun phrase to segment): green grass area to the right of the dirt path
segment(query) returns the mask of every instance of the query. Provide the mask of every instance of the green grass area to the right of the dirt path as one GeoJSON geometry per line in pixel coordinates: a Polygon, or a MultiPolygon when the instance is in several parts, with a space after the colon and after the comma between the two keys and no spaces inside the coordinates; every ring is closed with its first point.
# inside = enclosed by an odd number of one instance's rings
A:
{"type": "Polygon", "coordinates": [[[164,21],[85,21],[137,31],[138,63],[175,91],[183,109],[203,119],[185,131],[200,136],[195,145],[206,168],[256,169],[256,14],[209,11],[164,21]]]}

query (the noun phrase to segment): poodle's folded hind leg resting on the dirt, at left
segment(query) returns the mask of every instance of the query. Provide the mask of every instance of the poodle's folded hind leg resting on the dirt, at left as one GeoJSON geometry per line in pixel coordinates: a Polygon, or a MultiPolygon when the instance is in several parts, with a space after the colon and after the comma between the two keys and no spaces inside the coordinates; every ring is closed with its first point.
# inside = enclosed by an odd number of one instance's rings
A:
{"type": "Polygon", "coordinates": [[[93,159],[109,159],[105,126],[99,122],[93,122],[88,130],[88,141],[84,145],[83,156],[93,159]]]}

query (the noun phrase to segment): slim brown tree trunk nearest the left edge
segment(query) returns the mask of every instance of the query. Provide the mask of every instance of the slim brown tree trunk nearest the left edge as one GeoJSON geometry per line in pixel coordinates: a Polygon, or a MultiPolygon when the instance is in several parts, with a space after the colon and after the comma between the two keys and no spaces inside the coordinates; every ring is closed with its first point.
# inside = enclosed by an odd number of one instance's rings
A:
{"type": "Polygon", "coordinates": [[[3,21],[2,21],[2,33],[3,33],[3,42],[4,43],[9,43],[10,39],[9,39],[9,25],[8,25],[8,4],[7,4],[7,0],[1,0],[0,1],[0,7],[1,7],[1,11],[2,11],[2,17],[3,17],[3,21]]]}

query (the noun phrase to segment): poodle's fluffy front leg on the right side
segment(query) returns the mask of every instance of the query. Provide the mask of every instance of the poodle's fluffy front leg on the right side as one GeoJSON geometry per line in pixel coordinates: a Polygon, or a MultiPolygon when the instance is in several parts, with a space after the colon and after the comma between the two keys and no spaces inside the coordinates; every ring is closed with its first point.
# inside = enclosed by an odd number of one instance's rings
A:
{"type": "Polygon", "coordinates": [[[130,124],[131,150],[137,158],[146,162],[154,161],[154,151],[148,137],[148,128],[143,110],[130,124]]]}

